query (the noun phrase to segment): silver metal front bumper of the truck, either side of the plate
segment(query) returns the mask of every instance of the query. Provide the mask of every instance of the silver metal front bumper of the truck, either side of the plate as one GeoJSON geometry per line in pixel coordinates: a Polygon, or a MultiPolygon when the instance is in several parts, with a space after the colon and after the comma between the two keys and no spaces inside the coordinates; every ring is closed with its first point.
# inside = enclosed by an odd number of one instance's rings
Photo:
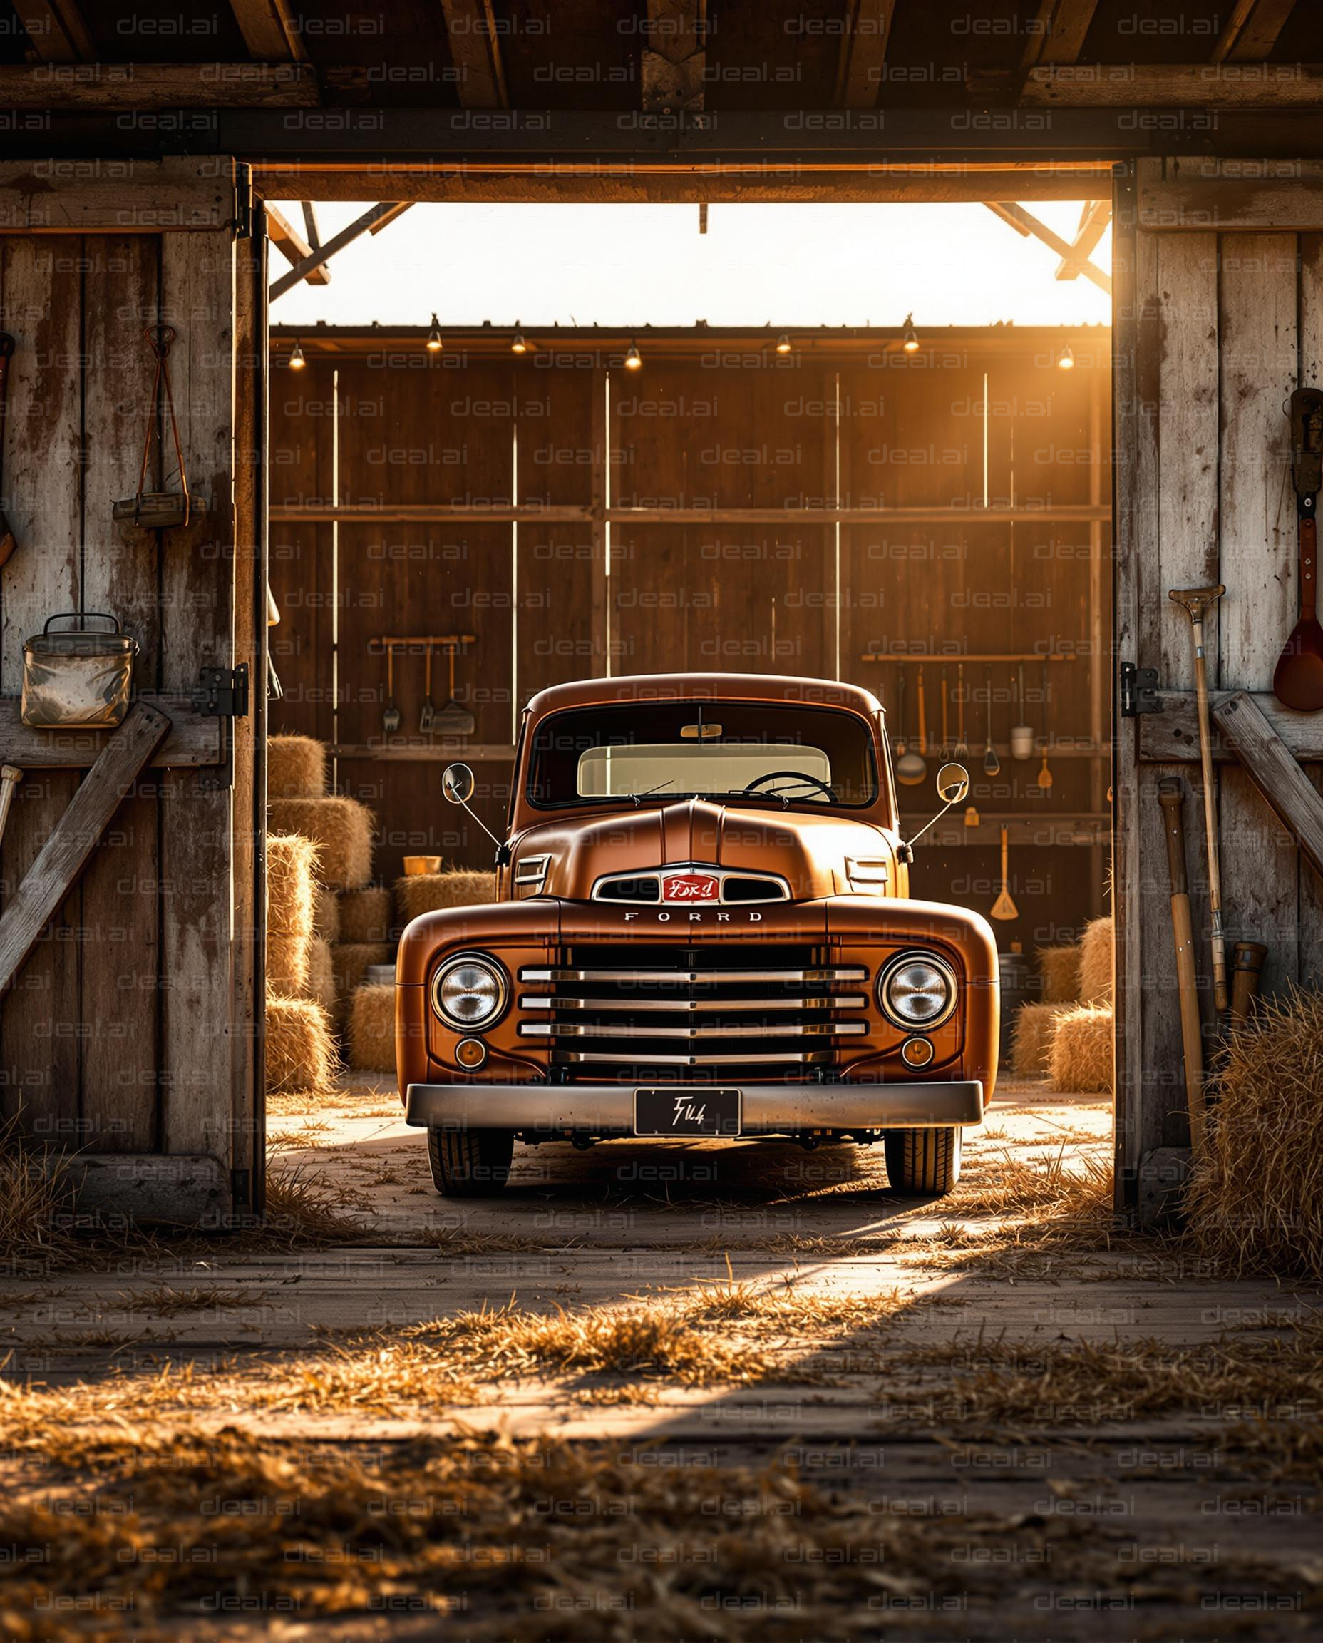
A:
{"type": "MultiPolygon", "coordinates": [[[[512,1129],[548,1139],[634,1135],[634,1084],[410,1084],[419,1129],[512,1129]]],[[[680,1086],[676,1086],[680,1088],[680,1086]]],[[[983,1084],[739,1084],[742,1135],[945,1129],[983,1122],[983,1084]]]]}

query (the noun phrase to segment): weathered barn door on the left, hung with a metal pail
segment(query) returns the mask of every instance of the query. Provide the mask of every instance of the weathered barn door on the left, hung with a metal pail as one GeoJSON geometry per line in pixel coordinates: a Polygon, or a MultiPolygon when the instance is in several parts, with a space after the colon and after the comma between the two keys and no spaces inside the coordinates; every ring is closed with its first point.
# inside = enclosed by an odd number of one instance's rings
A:
{"type": "MultiPolygon", "coordinates": [[[[264,271],[225,159],[0,168],[3,442],[18,549],[0,577],[0,743],[25,771],[0,858],[8,905],[105,736],[18,721],[23,642],[61,611],[138,641],[135,692],[171,720],[0,1007],[3,1111],[92,1155],[98,1199],[223,1222],[261,1204],[264,271]],[[169,375],[192,519],[112,521],[138,488],[154,363],[169,375]],[[199,711],[205,669],[249,708],[199,711]],[[172,1160],[164,1163],[163,1160],[172,1160]]],[[[153,452],[148,490],[174,488],[153,452]]]]}

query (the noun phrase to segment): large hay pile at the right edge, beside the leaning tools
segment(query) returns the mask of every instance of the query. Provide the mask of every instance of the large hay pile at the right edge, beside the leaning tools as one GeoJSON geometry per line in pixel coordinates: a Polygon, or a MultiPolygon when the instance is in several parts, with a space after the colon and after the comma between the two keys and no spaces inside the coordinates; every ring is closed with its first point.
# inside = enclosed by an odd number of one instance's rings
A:
{"type": "Polygon", "coordinates": [[[1188,1232],[1233,1273],[1323,1283],[1323,992],[1259,1004],[1231,1032],[1188,1232]]]}

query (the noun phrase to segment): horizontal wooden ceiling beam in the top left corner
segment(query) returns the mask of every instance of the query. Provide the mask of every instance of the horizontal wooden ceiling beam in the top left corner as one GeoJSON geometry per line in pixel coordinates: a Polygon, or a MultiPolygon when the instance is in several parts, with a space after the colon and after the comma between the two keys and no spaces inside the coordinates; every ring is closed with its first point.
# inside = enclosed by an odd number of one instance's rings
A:
{"type": "Polygon", "coordinates": [[[309,108],[317,99],[317,76],[300,62],[0,64],[0,108],[309,108]]]}

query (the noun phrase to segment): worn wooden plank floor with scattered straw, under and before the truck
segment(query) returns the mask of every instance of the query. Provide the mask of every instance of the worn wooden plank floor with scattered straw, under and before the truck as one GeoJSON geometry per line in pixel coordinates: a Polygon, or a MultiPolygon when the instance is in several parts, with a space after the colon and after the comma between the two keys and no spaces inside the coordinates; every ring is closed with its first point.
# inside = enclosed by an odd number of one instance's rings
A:
{"type": "MultiPolygon", "coordinates": [[[[318,1193],[338,1199],[361,1234],[294,1252],[217,1239],[126,1257],[120,1267],[0,1280],[10,1385],[39,1383],[51,1395],[85,1385],[87,1420],[97,1424],[107,1388],[118,1408],[163,1367],[177,1374],[192,1364],[190,1429],[238,1420],[254,1443],[550,1434],[737,1472],[790,1454],[803,1474],[867,1497],[870,1510],[970,1521],[993,1513],[1008,1525],[1072,1530],[1083,1521],[1115,1553],[1116,1577],[1087,1590],[1016,1567],[1008,1531],[1005,1607],[985,1594],[945,1622],[931,1607],[893,1608],[885,1630],[877,1618],[842,1615],[840,1636],[1316,1635],[1318,1487],[1277,1484],[1228,1457],[1229,1424],[1252,1410],[1228,1408],[1223,1397],[1218,1406],[1193,1400],[1138,1413],[1142,1400],[1129,1406],[1115,1369],[1111,1378],[1100,1370],[1096,1406],[1064,1408],[1044,1382],[1037,1418],[1021,1411],[942,1429],[888,1405],[888,1392],[901,1382],[913,1392],[916,1377],[934,1387],[955,1375],[977,1383],[980,1365],[1005,1359],[1008,1347],[1029,1362],[1139,1342],[1170,1355],[1282,1339],[1315,1316],[1316,1295],[1215,1277],[1172,1240],[1121,1234],[1106,1247],[1093,1236],[1059,1244],[1029,1236],[1023,1249],[1008,1249],[988,1236],[1005,1226],[988,1193],[1008,1162],[1059,1160],[1082,1171],[1110,1157],[1103,1099],[1011,1086],[970,1135],[962,1188],[945,1204],[890,1193],[880,1148],[625,1142],[584,1153],[519,1148],[502,1198],[453,1203],[433,1193],[422,1137],[401,1122],[386,1081],[346,1081],[317,1111],[282,1106],[271,1117],[277,1168],[315,1171],[318,1193]],[[245,1406],[246,1375],[284,1372],[327,1351],[368,1352],[373,1341],[402,1339],[433,1319],[510,1305],[570,1318],[683,1309],[732,1286],[768,1298],[773,1318],[786,1298],[803,1308],[801,1324],[788,1313],[783,1326],[760,1326],[757,1383],[543,1369],[476,1378],[423,1408],[417,1398],[392,1408],[379,1397],[245,1406]]],[[[732,1336],[740,1331],[735,1323],[732,1336]]],[[[1316,1431],[1316,1405],[1284,1418],[1313,1421],[1316,1431]]],[[[978,1546],[987,1574],[1000,1554],[978,1546]]],[[[272,1625],[235,1620],[171,1635],[318,1635],[272,1625]]],[[[415,1625],[407,1615],[345,1615],[328,1635],[432,1635],[415,1625]]],[[[568,1633],[548,1625],[545,1635],[568,1633]]],[[[619,1630],[584,1635],[680,1633],[648,1633],[635,1615],[619,1630]]],[[[773,1633],[750,1625],[744,1635],[773,1633]]]]}

